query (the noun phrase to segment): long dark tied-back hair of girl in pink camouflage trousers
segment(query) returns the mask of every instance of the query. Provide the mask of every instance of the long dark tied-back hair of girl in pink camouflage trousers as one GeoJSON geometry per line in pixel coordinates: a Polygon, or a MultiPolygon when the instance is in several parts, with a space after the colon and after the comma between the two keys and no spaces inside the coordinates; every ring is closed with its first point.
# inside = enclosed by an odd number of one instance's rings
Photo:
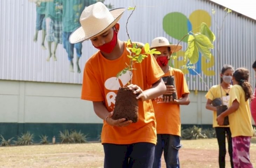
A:
{"type": "Polygon", "coordinates": [[[245,101],[252,97],[252,88],[251,84],[248,82],[249,80],[249,71],[246,68],[237,68],[233,73],[233,77],[238,82],[245,93],[245,101]]]}

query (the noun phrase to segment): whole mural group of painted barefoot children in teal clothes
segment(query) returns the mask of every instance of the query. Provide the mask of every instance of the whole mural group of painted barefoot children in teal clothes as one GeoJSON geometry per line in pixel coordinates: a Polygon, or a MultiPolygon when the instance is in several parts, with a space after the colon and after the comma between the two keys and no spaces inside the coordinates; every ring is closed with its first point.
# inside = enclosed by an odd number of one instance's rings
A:
{"type": "Polygon", "coordinates": [[[63,47],[69,61],[69,71],[74,72],[73,58],[76,55],[76,71],[81,72],[79,59],[82,56],[82,43],[71,44],[68,39],[70,34],[81,26],[79,18],[83,9],[93,3],[96,3],[96,0],[35,1],[36,31],[33,40],[37,42],[38,32],[42,31],[40,44],[43,50],[48,50],[46,61],[57,61],[56,50],[63,47]]]}

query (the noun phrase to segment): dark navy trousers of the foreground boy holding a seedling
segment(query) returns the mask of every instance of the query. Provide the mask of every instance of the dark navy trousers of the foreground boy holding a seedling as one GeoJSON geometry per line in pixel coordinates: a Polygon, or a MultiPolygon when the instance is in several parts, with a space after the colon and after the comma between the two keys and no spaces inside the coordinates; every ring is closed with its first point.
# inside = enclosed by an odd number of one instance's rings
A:
{"type": "Polygon", "coordinates": [[[152,168],[155,144],[103,144],[104,168],[152,168]]]}

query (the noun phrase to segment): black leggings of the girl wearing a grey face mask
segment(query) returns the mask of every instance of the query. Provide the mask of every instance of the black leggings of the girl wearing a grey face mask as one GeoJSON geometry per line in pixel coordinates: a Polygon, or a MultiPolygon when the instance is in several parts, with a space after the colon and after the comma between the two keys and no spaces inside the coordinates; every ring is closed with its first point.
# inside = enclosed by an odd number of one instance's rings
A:
{"type": "Polygon", "coordinates": [[[233,147],[232,147],[232,138],[231,138],[231,132],[229,127],[215,127],[216,136],[218,140],[219,145],[219,166],[220,168],[225,168],[225,155],[227,153],[226,151],[226,141],[225,141],[225,135],[227,134],[227,140],[228,140],[228,153],[230,156],[230,165],[232,168],[234,168],[233,164],[233,147]]]}

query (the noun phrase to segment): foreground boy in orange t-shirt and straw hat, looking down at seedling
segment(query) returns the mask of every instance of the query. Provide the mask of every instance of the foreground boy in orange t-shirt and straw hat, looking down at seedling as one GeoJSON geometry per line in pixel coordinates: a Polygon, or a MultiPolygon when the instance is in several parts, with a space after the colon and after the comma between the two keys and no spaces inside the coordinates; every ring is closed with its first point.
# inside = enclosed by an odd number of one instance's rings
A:
{"type": "Polygon", "coordinates": [[[152,55],[135,63],[130,90],[139,100],[137,123],[125,118],[112,119],[119,87],[130,81],[130,75],[116,78],[130,59],[127,43],[117,38],[119,23],[125,8],[109,11],[102,2],[85,8],[80,17],[81,27],[70,35],[70,43],[91,40],[97,51],[88,59],[83,73],[81,98],[93,102],[94,111],[103,120],[101,141],[104,167],[151,168],[156,144],[156,122],[151,99],[166,91],[161,79],[163,72],[152,55]]]}

